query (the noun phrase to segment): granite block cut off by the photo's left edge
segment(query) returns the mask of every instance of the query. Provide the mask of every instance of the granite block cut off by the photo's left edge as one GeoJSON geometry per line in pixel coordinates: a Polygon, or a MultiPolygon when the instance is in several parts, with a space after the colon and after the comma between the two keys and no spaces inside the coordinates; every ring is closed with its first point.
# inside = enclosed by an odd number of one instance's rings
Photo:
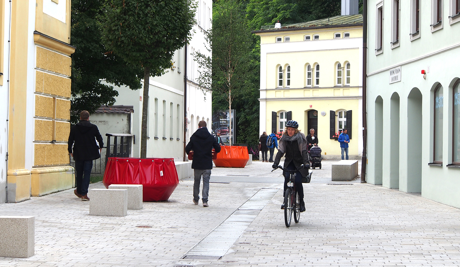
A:
{"type": "Polygon", "coordinates": [[[35,254],[35,217],[0,216],[0,257],[28,258],[35,254]]]}

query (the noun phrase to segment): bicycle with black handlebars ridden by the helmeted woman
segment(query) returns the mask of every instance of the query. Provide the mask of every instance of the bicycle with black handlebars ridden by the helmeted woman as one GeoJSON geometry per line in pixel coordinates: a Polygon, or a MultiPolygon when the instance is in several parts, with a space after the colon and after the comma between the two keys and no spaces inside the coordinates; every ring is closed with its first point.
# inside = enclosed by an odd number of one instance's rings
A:
{"type": "MultiPolygon", "coordinates": [[[[300,202],[299,202],[299,193],[295,190],[295,173],[302,169],[304,165],[302,164],[301,167],[297,170],[288,170],[281,165],[278,165],[276,169],[282,169],[289,173],[289,182],[288,182],[288,189],[284,193],[284,223],[286,227],[291,226],[292,214],[294,214],[294,222],[299,222],[300,220],[300,202]]],[[[276,170],[273,169],[273,170],[276,170]]],[[[273,171],[272,170],[272,171],[273,171]]],[[[311,173],[309,173],[311,176],[311,173]]]]}

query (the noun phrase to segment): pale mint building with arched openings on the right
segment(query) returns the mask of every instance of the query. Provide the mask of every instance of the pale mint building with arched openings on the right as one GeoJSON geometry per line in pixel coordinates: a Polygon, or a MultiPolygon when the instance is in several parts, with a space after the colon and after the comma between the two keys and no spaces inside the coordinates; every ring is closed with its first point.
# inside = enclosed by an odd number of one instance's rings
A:
{"type": "Polygon", "coordinates": [[[367,182],[460,207],[460,3],[370,0],[367,182]]]}

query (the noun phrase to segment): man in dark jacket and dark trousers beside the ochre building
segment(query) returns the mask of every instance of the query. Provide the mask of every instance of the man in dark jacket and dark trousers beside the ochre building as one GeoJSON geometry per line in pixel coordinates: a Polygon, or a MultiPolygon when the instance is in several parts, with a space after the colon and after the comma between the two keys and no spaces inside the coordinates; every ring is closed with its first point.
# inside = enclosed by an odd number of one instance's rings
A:
{"type": "Polygon", "coordinates": [[[75,160],[76,189],[74,193],[81,200],[89,200],[88,187],[92,161],[101,157],[104,142],[98,126],[89,122],[89,112],[80,113],[80,122],[72,126],[69,134],[69,153],[75,160]],[[99,146],[96,144],[98,140],[99,146]],[[74,149],[72,151],[72,145],[74,149]]]}

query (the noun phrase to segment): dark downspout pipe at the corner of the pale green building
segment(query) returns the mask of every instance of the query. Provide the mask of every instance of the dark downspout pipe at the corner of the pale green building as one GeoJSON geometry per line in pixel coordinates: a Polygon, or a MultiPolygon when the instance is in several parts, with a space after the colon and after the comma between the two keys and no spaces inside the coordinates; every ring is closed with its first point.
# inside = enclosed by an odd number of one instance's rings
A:
{"type": "Polygon", "coordinates": [[[366,183],[367,141],[368,141],[368,0],[362,1],[362,162],[361,183],[366,183]]]}

